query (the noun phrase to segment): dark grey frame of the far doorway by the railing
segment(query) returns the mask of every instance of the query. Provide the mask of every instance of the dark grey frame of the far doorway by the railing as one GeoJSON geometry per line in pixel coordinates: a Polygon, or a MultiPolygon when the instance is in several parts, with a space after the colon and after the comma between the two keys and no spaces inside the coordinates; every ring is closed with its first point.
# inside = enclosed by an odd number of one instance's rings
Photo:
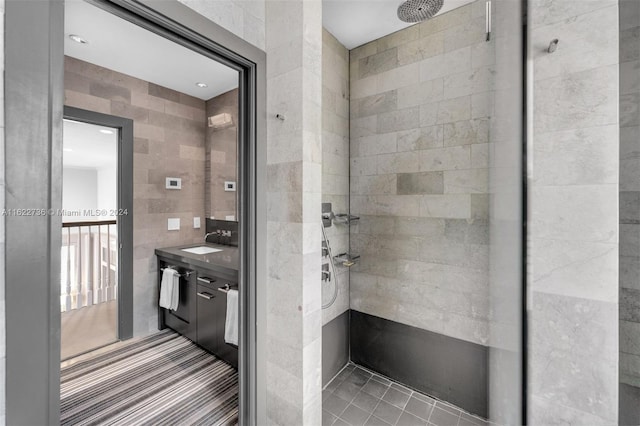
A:
{"type": "Polygon", "coordinates": [[[133,120],[70,106],[64,119],[111,127],[118,131],[118,340],[133,337],[133,120]]]}

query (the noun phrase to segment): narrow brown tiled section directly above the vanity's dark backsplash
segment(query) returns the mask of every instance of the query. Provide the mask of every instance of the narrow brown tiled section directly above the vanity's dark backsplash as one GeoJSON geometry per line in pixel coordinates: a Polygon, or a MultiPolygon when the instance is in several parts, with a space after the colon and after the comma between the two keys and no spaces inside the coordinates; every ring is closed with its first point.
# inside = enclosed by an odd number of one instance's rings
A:
{"type": "Polygon", "coordinates": [[[222,128],[207,127],[205,140],[205,216],[237,220],[237,192],[225,191],[224,183],[238,180],[238,89],[209,99],[207,117],[230,114],[233,124],[222,128]]]}

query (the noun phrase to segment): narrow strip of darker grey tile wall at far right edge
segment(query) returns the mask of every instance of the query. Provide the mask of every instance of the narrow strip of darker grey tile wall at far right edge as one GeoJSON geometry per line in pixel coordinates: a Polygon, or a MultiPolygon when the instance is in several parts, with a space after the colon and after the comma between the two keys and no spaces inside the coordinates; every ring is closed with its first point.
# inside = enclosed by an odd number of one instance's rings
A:
{"type": "Polygon", "coordinates": [[[620,7],[620,381],[640,387],[640,2],[620,7]]]}

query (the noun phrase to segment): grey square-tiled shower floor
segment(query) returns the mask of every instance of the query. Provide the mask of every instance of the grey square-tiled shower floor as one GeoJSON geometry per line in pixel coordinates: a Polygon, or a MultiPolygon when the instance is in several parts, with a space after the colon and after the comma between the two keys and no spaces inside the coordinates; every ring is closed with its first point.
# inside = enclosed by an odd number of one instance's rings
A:
{"type": "Polygon", "coordinates": [[[322,393],[322,424],[486,426],[487,422],[349,363],[322,393]]]}

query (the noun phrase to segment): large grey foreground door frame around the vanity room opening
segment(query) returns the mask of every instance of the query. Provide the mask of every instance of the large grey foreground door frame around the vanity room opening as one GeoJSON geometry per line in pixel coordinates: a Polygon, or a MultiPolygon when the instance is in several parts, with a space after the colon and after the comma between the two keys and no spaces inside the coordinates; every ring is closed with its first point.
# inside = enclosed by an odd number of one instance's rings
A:
{"type": "MultiPolygon", "coordinates": [[[[177,0],[90,2],[239,71],[239,423],[264,424],[266,54],[177,0]]],[[[64,36],[63,0],[6,1],[5,209],[61,209],[64,36]]],[[[5,420],[58,424],[61,218],[4,221],[5,420]]]]}

